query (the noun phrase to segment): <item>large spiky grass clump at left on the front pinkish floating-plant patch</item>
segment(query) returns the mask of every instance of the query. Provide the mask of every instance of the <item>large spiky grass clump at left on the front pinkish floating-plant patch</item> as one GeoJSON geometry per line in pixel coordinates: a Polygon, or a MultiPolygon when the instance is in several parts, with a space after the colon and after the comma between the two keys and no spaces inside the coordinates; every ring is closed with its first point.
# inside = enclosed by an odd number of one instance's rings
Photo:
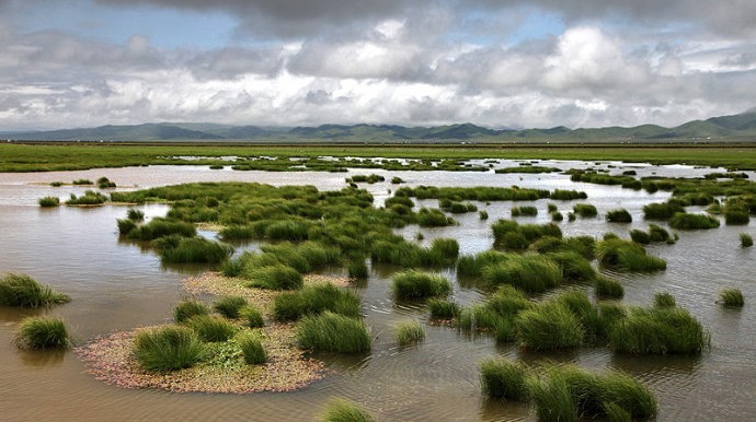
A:
{"type": "Polygon", "coordinates": [[[168,326],[139,331],[134,356],[150,372],[170,372],[194,366],[205,355],[205,345],[186,327],[168,326]]]}

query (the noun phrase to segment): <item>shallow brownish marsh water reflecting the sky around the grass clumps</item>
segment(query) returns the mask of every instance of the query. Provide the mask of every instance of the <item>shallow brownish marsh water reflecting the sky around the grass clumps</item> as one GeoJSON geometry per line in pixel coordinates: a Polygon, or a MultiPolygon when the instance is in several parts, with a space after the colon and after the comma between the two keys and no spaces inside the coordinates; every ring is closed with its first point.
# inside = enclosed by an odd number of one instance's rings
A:
{"type": "MultiPolygon", "coordinates": [[[[501,165],[507,163],[501,162],[501,165]]],[[[511,165],[512,163],[508,163],[511,165]]],[[[550,162],[549,165],[553,163],[550,162]]],[[[639,174],[703,175],[712,169],[686,166],[622,166],[639,174]]],[[[558,163],[564,168],[596,166],[595,163],[558,163]]],[[[400,176],[408,185],[511,186],[546,189],[570,188],[588,192],[599,213],[626,208],[633,215],[630,225],[602,220],[561,223],[568,236],[615,231],[626,235],[630,227],[646,228],[642,207],[661,201],[667,194],[648,195],[619,187],[573,184],[562,175],[495,175],[493,173],[411,173],[355,171],[400,176]]],[[[119,189],[199,180],[244,180],[273,185],[314,185],[320,189],[344,186],[350,174],[262,173],[209,171],[206,167],[106,168],[87,172],[0,174],[0,273],[26,272],[38,281],[71,295],[72,302],[45,313],[64,317],[78,341],[114,330],[168,321],[173,305],[184,292],[181,279],[197,269],[162,268],[159,259],[131,244],[118,243],[115,220],[124,207],[43,210],[36,199],[67,197],[84,187],[53,188],[45,183],[96,179],[107,176],[119,189]],[[43,183],[43,184],[36,184],[43,183]]],[[[753,176],[752,176],[753,177],[753,176]]],[[[390,177],[387,177],[387,179],[390,177]]],[[[365,185],[378,203],[388,197],[388,183],[365,185]]],[[[537,201],[540,215],[522,222],[546,222],[546,202],[537,201]]],[[[436,201],[427,204],[436,206],[436,201]]],[[[490,223],[507,218],[511,203],[478,204],[490,214],[488,222],[477,213],[456,216],[460,225],[422,230],[426,243],[435,237],[455,237],[462,253],[491,247],[490,223]]],[[[560,210],[572,202],[559,202],[560,210]]],[[[162,215],[165,206],[144,206],[148,218],[162,215]]],[[[401,233],[414,237],[417,227],[401,233]]],[[[535,420],[526,406],[489,401],[481,397],[477,364],[486,357],[506,355],[527,362],[553,360],[573,362],[600,371],[621,368],[645,382],[660,399],[658,420],[753,420],[756,415],[756,266],[754,248],[740,247],[738,233],[756,235],[748,226],[680,233],[674,246],[653,246],[652,254],[667,259],[665,272],[651,276],[612,274],[626,286],[625,303],[649,304],[653,294],[668,291],[678,305],[688,308],[712,332],[712,349],[700,356],[627,356],[607,349],[581,349],[558,354],[523,353],[514,345],[499,347],[481,336],[466,336],[453,328],[426,326],[426,340],[417,347],[399,348],[391,326],[413,317],[425,320],[420,306],[397,305],[388,294],[390,272],[375,268],[359,286],[366,321],[375,337],[369,355],[329,357],[329,375],[296,392],[203,395],[156,390],[128,390],[104,385],[85,374],[72,352],[21,352],[11,338],[15,325],[35,312],[0,307],[0,419],[9,421],[67,420],[255,420],[310,421],[332,396],[366,407],[379,420],[396,421],[511,421],[535,420]],[[741,310],[714,303],[724,286],[740,288],[746,298],[741,310]]],[[[451,271],[445,274],[456,281],[451,271]]],[[[586,288],[587,289],[587,288],[586,288]]],[[[467,283],[455,284],[454,298],[462,304],[479,301],[482,292],[467,283]]]]}

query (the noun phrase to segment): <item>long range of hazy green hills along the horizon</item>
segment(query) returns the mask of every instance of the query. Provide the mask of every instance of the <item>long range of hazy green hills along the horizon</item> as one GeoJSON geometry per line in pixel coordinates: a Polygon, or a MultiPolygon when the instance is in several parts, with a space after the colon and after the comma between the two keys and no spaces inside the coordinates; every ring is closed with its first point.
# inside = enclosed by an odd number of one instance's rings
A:
{"type": "Polygon", "coordinates": [[[254,142],[654,142],[756,141],[756,109],[733,116],[692,120],[675,128],[490,129],[473,124],[435,127],[397,125],[321,125],[264,128],[197,122],[161,122],[50,131],[0,132],[0,137],[34,141],[254,141],[254,142]]]}

